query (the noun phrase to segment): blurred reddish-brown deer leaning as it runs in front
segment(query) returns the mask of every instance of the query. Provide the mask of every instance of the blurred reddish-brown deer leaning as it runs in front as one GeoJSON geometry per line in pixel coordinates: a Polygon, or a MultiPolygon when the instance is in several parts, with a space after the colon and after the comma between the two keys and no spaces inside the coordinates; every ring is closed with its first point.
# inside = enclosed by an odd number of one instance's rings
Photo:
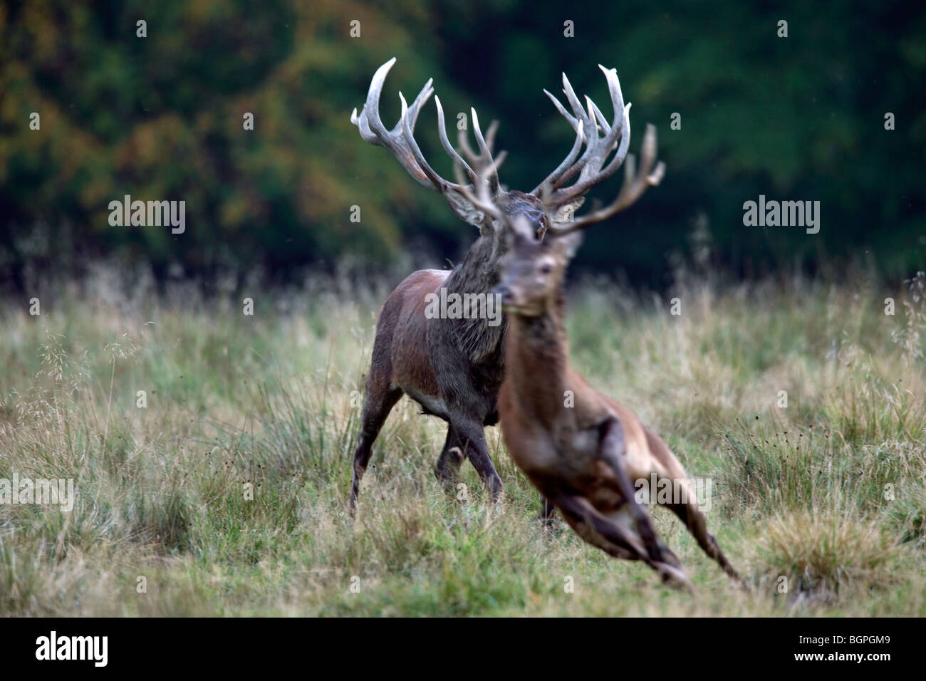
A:
{"type": "MultiPolygon", "coordinates": [[[[622,160],[619,154],[612,163],[622,160]]],[[[512,458],[582,539],[617,558],[645,561],[664,580],[691,588],[678,558],[657,539],[640,503],[646,496],[678,515],[707,555],[740,578],[707,533],[692,481],[666,444],[630,410],[570,369],[563,323],[563,278],[580,230],[627,208],[647,186],[658,183],[665,169],[661,162],[654,168],[655,163],[656,130],[647,126],[641,170],[636,172],[629,156],[614,202],[568,224],[550,225],[542,241],[520,216],[509,217],[494,207],[482,170],[476,190],[465,194],[476,208],[508,225],[494,293],[501,296],[508,317],[507,376],[498,407],[512,458]],[[657,497],[655,489],[648,490],[651,479],[658,489],[668,485],[674,494],[657,497]],[[633,481],[646,485],[637,489],[633,481]]]]}

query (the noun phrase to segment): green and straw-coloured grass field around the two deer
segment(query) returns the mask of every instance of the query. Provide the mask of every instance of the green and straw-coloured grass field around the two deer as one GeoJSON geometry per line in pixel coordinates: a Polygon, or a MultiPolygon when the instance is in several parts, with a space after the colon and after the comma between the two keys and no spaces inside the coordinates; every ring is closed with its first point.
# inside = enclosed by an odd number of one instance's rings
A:
{"type": "Polygon", "coordinates": [[[256,291],[253,316],[192,287],[103,279],[40,296],[38,316],[7,297],[0,478],[73,478],[77,500],[0,505],[0,613],[926,615],[923,283],[848,279],[572,290],[575,366],[713,481],[708,525],[753,590],[657,509],[694,597],[562,523],[544,530],[497,428],[505,500],[491,504],[469,464],[468,499],[445,497],[432,474],[444,423],[406,398],[351,523],[385,288],[256,291]]]}

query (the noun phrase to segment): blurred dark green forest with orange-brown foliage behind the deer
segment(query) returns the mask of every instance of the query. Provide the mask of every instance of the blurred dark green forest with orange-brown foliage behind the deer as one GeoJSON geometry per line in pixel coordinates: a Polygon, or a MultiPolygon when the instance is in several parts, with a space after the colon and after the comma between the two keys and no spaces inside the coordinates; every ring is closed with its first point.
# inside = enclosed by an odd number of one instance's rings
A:
{"type": "MultiPolygon", "coordinates": [[[[473,228],[349,121],[390,57],[387,126],[399,90],[413,97],[433,77],[451,125],[470,106],[483,126],[500,121],[502,182],[522,190],[573,139],[543,89],[558,95],[565,70],[609,116],[596,65],[618,70],[632,151],[655,123],[667,175],[590,231],[579,269],[660,287],[671,254],[708,238],[710,267],[737,278],[795,266],[838,277],[861,261],[896,282],[923,269],[921,3],[33,0],[0,5],[0,286],[77,278],[101,258],[203,282],[458,259],[473,228]],[[743,203],[760,194],[819,200],[820,233],[745,227],[743,203]],[[185,200],[186,232],[110,226],[123,195],[185,200]]],[[[416,137],[451,177],[432,102],[416,137]]]]}

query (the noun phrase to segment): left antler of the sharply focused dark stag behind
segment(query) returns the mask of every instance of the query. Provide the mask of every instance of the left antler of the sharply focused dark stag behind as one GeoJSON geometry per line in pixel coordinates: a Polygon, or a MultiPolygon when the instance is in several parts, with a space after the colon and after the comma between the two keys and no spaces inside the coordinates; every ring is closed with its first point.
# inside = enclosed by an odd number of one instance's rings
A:
{"type": "MultiPolygon", "coordinates": [[[[402,116],[391,131],[387,131],[386,127],[382,124],[382,119],[380,118],[382,85],[386,80],[389,70],[393,68],[394,64],[395,57],[383,64],[376,70],[376,73],[373,74],[373,80],[369,83],[367,102],[360,111],[359,116],[357,116],[357,108],[354,109],[350,117],[351,122],[357,126],[360,131],[360,136],[364,141],[373,145],[385,146],[393,153],[393,156],[398,159],[402,167],[405,168],[408,174],[415,178],[415,180],[424,186],[436,189],[444,195],[447,202],[450,204],[450,208],[453,208],[460,218],[472,224],[481,225],[483,221],[482,215],[475,213],[472,207],[468,205],[468,202],[465,202],[463,199],[465,196],[463,192],[463,189],[466,187],[465,183],[462,181],[460,183],[451,183],[438,175],[437,172],[432,169],[428,161],[425,160],[418,143],[415,141],[415,123],[418,121],[421,107],[424,106],[434,93],[434,88],[432,87],[433,79],[429,79],[428,82],[424,83],[424,87],[421,88],[419,95],[415,97],[415,101],[412,102],[411,107],[407,106],[405,97],[400,92],[399,98],[402,100],[402,116]]],[[[444,108],[441,107],[441,100],[437,96],[434,97],[434,103],[437,105],[437,132],[441,140],[441,145],[444,147],[444,151],[450,158],[453,158],[455,167],[458,166],[466,173],[469,182],[475,182],[476,173],[469,164],[457,154],[457,151],[450,145],[450,141],[447,139],[444,108]]],[[[479,145],[480,154],[475,155],[471,153],[469,145],[465,141],[465,136],[461,131],[460,140],[464,145],[464,150],[468,152],[471,158],[479,158],[481,161],[484,160],[489,167],[496,167],[493,163],[490,149],[493,144],[495,131],[498,127],[497,123],[493,122],[492,125],[489,126],[488,133],[483,137],[482,130],[480,130],[479,127],[479,118],[476,116],[476,110],[471,108],[470,111],[472,112],[473,132],[476,136],[476,142],[479,145]]],[[[494,172],[492,175],[491,185],[492,191],[497,193],[499,189],[497,172],[494,172]]]]}

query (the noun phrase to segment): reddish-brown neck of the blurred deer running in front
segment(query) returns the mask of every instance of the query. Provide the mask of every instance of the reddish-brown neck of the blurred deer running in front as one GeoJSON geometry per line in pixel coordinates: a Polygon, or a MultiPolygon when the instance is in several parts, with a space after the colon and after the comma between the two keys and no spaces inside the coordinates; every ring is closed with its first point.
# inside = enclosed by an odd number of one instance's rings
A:
{"type": "Polygon", "coordinates": [[[509,315],[505,365],[519,407],[544,425],[572,418],[565,409],[569,385],[569,342],[561,304],[539,317],[509,315]]]}

